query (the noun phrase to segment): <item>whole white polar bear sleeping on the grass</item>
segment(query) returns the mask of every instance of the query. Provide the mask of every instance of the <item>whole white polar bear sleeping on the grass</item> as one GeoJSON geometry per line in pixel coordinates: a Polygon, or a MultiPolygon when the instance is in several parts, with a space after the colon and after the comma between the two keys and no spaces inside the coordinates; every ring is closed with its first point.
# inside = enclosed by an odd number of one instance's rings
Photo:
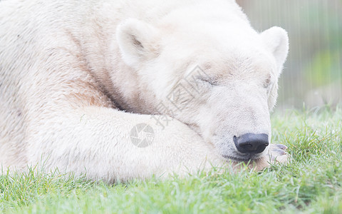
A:
{"type": "Polygon", "coordinates": [[[249,162],[269,146],[284,29],[232,0],[2,0],[0,163],[108,182],[249,162]]]}

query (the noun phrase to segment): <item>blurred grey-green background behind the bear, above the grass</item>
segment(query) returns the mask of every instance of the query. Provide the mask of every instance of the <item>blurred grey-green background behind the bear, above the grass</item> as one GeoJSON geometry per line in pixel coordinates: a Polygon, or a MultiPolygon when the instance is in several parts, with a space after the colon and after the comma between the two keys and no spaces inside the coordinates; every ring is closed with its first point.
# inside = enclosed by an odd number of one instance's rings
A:
{"type": "Polygon", "coordinates": [[[257,31],[281,26],[290,51],[277,109],[342,103],[342,0],[237,0],[257,31]]]}

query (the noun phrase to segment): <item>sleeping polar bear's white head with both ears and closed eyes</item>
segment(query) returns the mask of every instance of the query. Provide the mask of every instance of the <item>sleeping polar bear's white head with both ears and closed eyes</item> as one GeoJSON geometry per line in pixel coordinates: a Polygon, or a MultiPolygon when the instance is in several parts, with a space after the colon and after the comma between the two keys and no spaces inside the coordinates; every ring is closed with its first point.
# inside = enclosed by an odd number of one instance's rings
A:
{"type": "Polygon", "coordinates": [[[131,111],[177,118],[225,158],[264,156],[289,51],[286,31],[272,27],[259,34],[244,16],[190,18],[156,25],[128,19],[118,26],[121,56],[137,73],[145,103],[131,111]]]}

